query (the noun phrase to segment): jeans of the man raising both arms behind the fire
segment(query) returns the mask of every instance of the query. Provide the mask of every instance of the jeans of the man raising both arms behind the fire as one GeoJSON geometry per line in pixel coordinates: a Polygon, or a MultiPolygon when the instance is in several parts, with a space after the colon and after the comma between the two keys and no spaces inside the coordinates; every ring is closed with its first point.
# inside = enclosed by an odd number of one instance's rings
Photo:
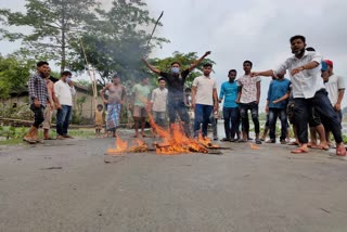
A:
{"type": "Polygon", "coordinates": [[[170,125],[176,123],[176,115],[178,114],[182,121],[184,121],[184,132],[185,136],[191,136],[191,130],[189,126],[189,115],[187,107],[184,105],[182,98],[172,98],[168,95],[168,103],[167,103],[167,112],[169,115],[170,125]]]}

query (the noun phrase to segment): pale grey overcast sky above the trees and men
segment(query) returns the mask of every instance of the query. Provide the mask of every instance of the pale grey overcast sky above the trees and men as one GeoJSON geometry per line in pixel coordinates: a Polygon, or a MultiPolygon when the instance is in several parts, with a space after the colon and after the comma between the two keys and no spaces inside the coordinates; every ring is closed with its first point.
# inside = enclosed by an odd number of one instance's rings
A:
{"type": "MultiPolygon", "coordinates": [[[[101,1],[108,8],[111,0],[101,1]]],[[[175,51],[211,51],[214,77],[219,86],[227,73],[250,60],[254,70],[275,67],[291,54],[288,39],[304,35],[307,46],[334,62],[335,74],[347,76],[347,1],[343,0],[146,0],[152,17],[162,11],[163,27],[156,36],[171,42],[152,56],[166,57],[175,51]]],[[[24,10],[24,0],[0,0],[0,8],[24,10]]],[[[0,42],[1,53],[18,44],[0,42]]],[[[262,78],[262,100],[269,79],[262,78]]],[[[264,102],[264,101],[262,101],[264,102]]],[[[264,104],[261,104],[262,106],[264,104]]]]}

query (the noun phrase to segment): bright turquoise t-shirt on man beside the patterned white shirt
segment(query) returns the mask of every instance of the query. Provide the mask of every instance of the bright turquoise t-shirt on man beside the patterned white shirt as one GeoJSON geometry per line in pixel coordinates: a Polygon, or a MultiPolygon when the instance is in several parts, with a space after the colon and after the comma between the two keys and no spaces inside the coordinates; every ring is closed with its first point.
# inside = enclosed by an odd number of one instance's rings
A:
{"type": "Polygon", "coordinates": [[[224,99],[223,107],[237,107],[235,102],[239,93],[239,85],[236,81],[226,81],[220,87],[219,99],[224,99]]]}

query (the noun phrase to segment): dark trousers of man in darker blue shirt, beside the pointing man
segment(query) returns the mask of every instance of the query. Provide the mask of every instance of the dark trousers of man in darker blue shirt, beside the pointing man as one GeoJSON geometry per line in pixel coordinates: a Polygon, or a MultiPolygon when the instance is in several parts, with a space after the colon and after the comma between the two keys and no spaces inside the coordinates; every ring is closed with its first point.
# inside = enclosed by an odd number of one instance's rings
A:
{"type": "Polygon", "coordinates": [[[269,137],[271,140],[275,140],[275,124],[278,117],[281,120],[281,137],[280,140],[285,140],[287,129],[286,108],[269,108],[269,137]]]}

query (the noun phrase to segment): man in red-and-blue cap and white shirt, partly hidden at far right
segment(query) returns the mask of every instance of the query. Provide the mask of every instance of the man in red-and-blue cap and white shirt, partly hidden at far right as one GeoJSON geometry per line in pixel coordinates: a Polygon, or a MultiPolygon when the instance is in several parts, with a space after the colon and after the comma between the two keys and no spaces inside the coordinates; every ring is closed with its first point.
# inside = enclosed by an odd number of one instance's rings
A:
{"type": "MultiPolygon", "coordinates": [[[[340,111],[340,103],[344,99],[346,86],[345,86],[344,77],[334,74],[333,67],[334,65],[332,61],[324,60],[322,62],[322,68],[321,68],[322,78],[324,80],[327,98],[332,103],[335,112],[337,113],[339,123],[342,123],[343,114],[340,111]]],[[[325,137],[327,142],[330,143],[329,136],[330,136],[330,128],[325,128],[325,137]]]]}

